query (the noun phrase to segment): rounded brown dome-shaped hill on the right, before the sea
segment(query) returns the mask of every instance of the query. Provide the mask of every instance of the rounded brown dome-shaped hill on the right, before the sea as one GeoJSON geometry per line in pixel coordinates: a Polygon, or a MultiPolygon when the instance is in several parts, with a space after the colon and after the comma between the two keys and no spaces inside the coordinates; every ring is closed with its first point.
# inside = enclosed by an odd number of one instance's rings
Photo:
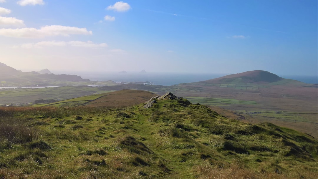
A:
{"type": "Polygon", "coordinates": [[[220,78],[209,79],[204,82],[206,83],[273,83],[280,81],[283,78],[271,73],[262,70],[254,70],[243,73],[237,73],[232,75],[226,75],[220,78]]]}

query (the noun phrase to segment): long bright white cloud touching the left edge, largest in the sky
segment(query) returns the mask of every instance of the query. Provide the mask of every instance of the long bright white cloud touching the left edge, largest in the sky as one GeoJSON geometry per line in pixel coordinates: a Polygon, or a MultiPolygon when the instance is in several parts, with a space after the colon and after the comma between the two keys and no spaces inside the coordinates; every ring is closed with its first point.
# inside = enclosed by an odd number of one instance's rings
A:
{"type": "MultiPolygon", "coordinates": [[[[22,21],[23,22],[23,21],[22,21]]],[[[1,21],[0,21],[1,24],[1,21]]],[[[40,29],[0,29],[0,36],[15,38],[43,38],[47,36],[92,35],[92,31],[86,28],[69,27],[62,25],[46,25],[40,29]]]]}

